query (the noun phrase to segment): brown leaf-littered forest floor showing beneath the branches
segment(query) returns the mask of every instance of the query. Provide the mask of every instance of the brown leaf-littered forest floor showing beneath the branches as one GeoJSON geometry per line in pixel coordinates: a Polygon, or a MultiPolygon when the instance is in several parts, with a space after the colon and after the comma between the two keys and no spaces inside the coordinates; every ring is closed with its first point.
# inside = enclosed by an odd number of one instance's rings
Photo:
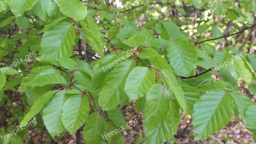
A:
{"type": "MultiPolygon", "coordinates": [[[[123,130],[121,133],[124,136],[126,144],[135,144],[138,136],[143,136],[143,123],[142,117],[143,112],[135,110],[136,102],[133,101],[130,105],[120,107],[124,119],[126,123],[132,123],[133,120],[137,120],[138,124],[133,124],[130,130],[123,130]]],[[[232,117],[231,122],[229,122],[226,126],[226,129],[221,129],[220,132],[227,132],[226,135],[220,136],[215,134],[215,138],[208,138],[202,141],[194,141],[193,136],[193,125],[190,123],[190,119],[185,118],[185,114],[182,113],[181,122],[179,125],[179,129],[177,135],[175,136],[176,141],[175,144],[256,144],[252,138],[252,133],[245,128],[245,124],[239,120],[236,121],[234,117],[232,117]],[[189,126],[187,126],[189,124],[189,126]],[[230,127],[232,126],[232,131],[230,127]],[[229,129],[229,132],[227,130],[229,129]]],[[[219,134],[221,134],[219,132],[219,134]]],[[[84,144],[83,133],[81,131],[81,144],[84,144]]],[[[36,131],[31,130],[30,141],[26,142],[26,144],[42,144],[42,141],[45,143],[51,144],[76,144],[76,134],[70,135],[68,132],[65,136],[60,136],[58,134],[55,137],[55,140],[51,140],[49,138],[47,130],[36,131]],[[59,141],[56,141],[59,140],[59,141]]],[[[146,144],[143,140],[142,144],[146,144]]],[[[170,144],[166,142],[164,144],[170,144]]]]}

